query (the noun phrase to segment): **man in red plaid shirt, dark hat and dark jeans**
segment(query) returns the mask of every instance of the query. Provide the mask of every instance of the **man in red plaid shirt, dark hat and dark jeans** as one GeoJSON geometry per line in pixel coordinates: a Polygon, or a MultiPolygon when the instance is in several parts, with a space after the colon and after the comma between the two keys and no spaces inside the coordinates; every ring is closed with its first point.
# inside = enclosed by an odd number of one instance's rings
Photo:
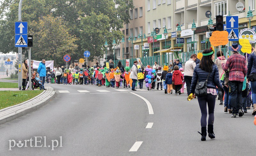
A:
{"type": "Polygon", "coordinates": [[[244,112],[242,111],[242,88],[244,77],[247,73],[247,65],[245,57],[238,52],[241,50],[242,46],[237,43],[232,44],[228,47],[230,51],[233,52],[226,64],[222,61],[222,68],[224,71],[228,71],[229,68],[229,87],[231,92],[231,105],[232,105],[232,116],[236,117],[238,113],[239,117],[242,117],[244,112]]]}

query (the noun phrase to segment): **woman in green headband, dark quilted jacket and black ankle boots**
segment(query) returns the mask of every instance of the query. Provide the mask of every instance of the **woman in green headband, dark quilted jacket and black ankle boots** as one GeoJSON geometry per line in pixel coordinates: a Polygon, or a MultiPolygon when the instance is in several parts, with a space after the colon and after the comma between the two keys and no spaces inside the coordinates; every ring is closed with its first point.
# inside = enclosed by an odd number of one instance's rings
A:
{"type": "Polygon", "coordinates": [[[215,138],[213,133],[214,122],[214,106],[217,96],[216,86],[222,89],[220,84],[219,70],[213,62],[214,51],[205,49],[203,57],[194,69],[190,93],[193,97],[197,96],[199,107],[201,110],[201,140],[206,140],[206,125],[207,125],[207,104],[208,104],[208,136],[215,138]]]}

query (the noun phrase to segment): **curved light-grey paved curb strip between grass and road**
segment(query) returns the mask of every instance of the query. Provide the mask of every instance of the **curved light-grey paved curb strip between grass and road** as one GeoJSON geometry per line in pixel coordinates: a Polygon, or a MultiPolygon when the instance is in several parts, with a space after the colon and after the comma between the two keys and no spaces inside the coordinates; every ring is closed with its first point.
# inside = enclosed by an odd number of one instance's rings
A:
{"type": "Polygon", "coordinates": [[[55,96],[56,91],[52,87],[45,88],[47,90],[44,90],[41,94],[28,101],[0,110],[0,124],[28,114],[50,102],[53,96],[55,96]]]}

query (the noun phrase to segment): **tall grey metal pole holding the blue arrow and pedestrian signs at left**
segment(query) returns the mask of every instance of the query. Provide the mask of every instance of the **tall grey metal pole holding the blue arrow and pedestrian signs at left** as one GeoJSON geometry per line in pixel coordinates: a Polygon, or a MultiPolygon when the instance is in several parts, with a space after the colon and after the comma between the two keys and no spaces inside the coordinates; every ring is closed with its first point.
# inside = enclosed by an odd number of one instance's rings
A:
{"type": "MultiPolygon", "coordinates": [[[[22,6],[22,0],[20,0],[20,3],[19,3],[19,20],[18,21],[22,21],[21,20],[21,6],[22,6]]],[[[18,48],[18,67],[19,67],[19,70],[18,70],[18,87],[20,88],[20,90],[22,90],[22,78],[21,78],[21,75],[22,75],[22,70],[21,70],[21,62],[22,62],[22,48],[19,47],[18,48]]]]}

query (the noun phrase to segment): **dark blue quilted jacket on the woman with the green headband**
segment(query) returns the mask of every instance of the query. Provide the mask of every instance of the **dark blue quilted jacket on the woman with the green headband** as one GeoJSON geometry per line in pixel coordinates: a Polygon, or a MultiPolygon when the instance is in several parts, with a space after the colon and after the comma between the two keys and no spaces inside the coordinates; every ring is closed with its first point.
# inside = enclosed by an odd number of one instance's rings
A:
{"type": "MultiPolygon", "coordinates": [[[[196,67],[194,69],[193,77],[192,77],[190,93],[193,93],[193,94],[195,93],[197,80],[198,80],[198,82],[205,81],[207,79],[208,74],[209,74],[208,72],[199,68],[199,65],[200,64],[196,65],[196,67]]],[[[216,64],[213,64],[212,65],[212,72],[209,75],[209,78],[208,78],[208,81],[207,81],[207,88],[216,89],[216,86],[218,86],[218,88],[222,89],[222,85],[220,83],[220,78],[219,78],[218,67],[217,67],[216,64]]]]}

